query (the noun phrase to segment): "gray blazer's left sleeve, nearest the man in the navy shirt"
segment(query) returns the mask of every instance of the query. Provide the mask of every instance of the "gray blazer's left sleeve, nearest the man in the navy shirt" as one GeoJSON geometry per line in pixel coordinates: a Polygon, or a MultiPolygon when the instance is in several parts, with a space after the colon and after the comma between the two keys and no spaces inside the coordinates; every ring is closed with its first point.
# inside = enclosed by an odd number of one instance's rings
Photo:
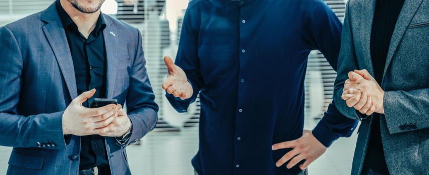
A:
{"type": "Polygon", "coordinates": [[[348,72],[358,69],[356,53],[353,44],[353,33],[350,24],[349,1],[346,4],[343,31],[341,35],[341,48],[338,56],[337,77],[334,83],[333,100],[338,110],[347,117],[360,120],[358,112],[347,106],[345,100],[341,98],[344,82],[348,79],[348,72]]]}

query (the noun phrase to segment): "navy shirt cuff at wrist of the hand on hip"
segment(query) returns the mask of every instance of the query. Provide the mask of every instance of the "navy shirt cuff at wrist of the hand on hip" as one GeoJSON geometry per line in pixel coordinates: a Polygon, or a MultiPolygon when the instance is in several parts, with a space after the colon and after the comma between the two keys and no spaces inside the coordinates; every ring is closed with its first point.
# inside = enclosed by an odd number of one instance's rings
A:
{"type": "Polygon", "coordinates": [[[316,127],[311,131],[325,147],[329,147],[336,139],[339,138],[338,135],[331,132],[331,130],[323,122],[317,123],[316,127]]]}

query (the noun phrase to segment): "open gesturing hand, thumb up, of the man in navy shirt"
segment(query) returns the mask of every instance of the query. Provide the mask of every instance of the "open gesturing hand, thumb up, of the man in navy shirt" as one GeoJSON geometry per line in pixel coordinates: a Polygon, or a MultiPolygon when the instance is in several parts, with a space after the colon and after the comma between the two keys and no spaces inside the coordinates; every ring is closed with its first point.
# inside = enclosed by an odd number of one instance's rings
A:
{"type": "Polygon", "coordinates": [[[168,68],[168,76],[162,83],[162,88],[180,99],[190,98],[193,94],[192,85],[188,82],[185,72],[173,63],[169,56],[164,57],[168,68]]]}

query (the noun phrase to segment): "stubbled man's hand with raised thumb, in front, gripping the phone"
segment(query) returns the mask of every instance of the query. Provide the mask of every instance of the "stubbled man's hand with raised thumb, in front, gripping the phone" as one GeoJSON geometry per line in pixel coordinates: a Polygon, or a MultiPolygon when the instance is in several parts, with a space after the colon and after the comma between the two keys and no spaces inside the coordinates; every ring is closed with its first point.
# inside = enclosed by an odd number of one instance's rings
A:
{"type": "Polygon", "coordinates": [[[83,92],[72,100],[63,113],[63,134],[92,135],[98,134],[94,129],[104,127],[112,122],[120,104],[109,104],[98,108],[87,108],[82,103],[94,95],[95,89],[83,92]]]}

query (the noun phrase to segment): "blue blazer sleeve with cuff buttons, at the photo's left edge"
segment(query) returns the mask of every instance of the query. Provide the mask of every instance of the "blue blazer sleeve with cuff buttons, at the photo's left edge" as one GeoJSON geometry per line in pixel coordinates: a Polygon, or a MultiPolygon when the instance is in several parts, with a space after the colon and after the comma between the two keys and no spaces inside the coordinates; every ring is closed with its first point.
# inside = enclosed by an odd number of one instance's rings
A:
{"type": "Polygon", "coordinates": [[[29,116],[18,113],[24,61],[7,26],[0,28],[0,48],[0,145],[64,149],[64,111],[29,116]]]}

